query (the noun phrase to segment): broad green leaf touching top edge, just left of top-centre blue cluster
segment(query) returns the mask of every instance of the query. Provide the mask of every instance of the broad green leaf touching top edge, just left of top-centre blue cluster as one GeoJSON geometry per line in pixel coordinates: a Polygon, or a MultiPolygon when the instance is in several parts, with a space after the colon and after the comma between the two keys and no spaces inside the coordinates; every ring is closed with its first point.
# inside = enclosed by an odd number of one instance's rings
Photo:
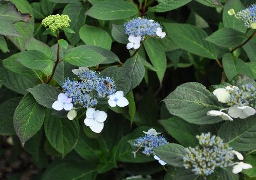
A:
{"type": "Polygon", "coordinates": [[[90,8],[86,14],[95,19],[116,20],[137,15],[137,6],[121,0],[105,0],[90,8]]]}

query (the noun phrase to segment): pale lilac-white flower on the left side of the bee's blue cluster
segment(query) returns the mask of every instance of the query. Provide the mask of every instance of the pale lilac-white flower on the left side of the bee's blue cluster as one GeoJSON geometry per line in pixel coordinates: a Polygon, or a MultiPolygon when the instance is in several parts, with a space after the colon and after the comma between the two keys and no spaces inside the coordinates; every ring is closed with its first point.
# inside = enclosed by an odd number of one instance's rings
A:
{"type": "Polygon", "coordinates": [[[73,109],[72,98],[68,98],[68,96],[64,93],[60,93],[58,95],[58,100],[53,102],[52,108],[55,110],[71,110],[73,109]]]}

